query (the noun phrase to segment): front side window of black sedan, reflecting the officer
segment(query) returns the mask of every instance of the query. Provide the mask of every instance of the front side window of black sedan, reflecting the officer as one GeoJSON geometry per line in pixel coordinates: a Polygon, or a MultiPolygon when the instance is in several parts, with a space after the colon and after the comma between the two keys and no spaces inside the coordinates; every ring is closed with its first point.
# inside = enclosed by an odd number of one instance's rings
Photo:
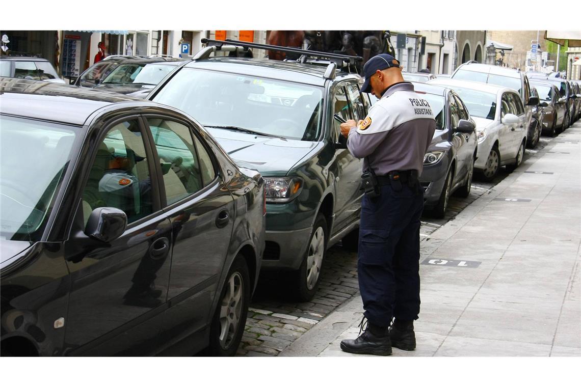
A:
{"type": "Polygon", "coordinates": [[[83,191],[85,224],[98,207],[121,209],[129,223],[153,212],[147,154],[137,120],[114,125],[98,144],[83,191]]]}

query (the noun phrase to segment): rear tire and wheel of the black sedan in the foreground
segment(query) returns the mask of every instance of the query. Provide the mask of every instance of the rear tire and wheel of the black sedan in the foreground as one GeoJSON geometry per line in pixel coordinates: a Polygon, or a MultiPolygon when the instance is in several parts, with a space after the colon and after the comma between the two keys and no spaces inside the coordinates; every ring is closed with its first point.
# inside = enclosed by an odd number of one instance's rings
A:
{"type": "Polygon", "coordinates": [[[250,302],[250,274],[242,255],[228,270],[210,327],[209,356],[234,356],[240,345],[250,302]]]}

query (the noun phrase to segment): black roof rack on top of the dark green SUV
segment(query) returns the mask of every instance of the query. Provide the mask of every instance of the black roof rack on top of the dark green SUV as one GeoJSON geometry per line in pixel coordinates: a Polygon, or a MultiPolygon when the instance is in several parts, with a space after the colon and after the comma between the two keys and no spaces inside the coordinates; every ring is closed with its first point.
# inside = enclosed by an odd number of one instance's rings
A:
{"type": "Polygon", "coordinates": [[[283,47],[283,46],[274,46],[268,44],[259,44],[259,43],[250,43],[250,42],[241,42],[235,41],[232,39],[226,39],[225,41],[218,41],[214,39],[202,39],[203,44],[207,44],[205,49],[202,49],[200,52],[196,53],[193,59],[207,59],[210,57],[210,54],[216,50],[224,50],[224,51],[234,51],[238,50],[238,48],[243,49],[263,49],[263,50],[270,50],[270,51],[278,51],[278,52],[285,52],[285,53],[292,53],[292,54],[299,54],[299,59],[296,62],[300,63],[309,63],[309,64],[326,64],[327,70],[325,70],[324,77],[327,79],[335,78],[335,70],[337,67],[347,67],[349,72],[350,66],[356,66],[357,63],[363,61],[363,57],[361,56],[351,56],[351,55],[343,55],[338,53],[330,53],[330,52],[320,52],[320,51],[313,51],[313,50],[303,50],[299,48],[293,47],[283,47]],[[329,60],[329,62],[322,62],[320,59],[329,60]]]}

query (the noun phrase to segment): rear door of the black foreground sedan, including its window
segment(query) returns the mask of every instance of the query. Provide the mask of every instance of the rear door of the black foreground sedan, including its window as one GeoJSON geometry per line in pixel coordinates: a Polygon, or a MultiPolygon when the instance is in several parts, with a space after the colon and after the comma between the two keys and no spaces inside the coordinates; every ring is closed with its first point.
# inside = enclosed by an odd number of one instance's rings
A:
{"type": "Polygon", "coordinates": [[[158,352],[165,355],[169,353],[166,350],[181,342],[182,348],[192,353],[205,343],[200,335],[209,322],[211,303],[220,291],[218,279],[237,215],[234,199],[220,178],[220,168],[210,148],[199,136],[199,128],[173,117],[144,117],[152,136],[158,173],[163,176],[163,211],[173,230],[169,309],[158,352]]]}

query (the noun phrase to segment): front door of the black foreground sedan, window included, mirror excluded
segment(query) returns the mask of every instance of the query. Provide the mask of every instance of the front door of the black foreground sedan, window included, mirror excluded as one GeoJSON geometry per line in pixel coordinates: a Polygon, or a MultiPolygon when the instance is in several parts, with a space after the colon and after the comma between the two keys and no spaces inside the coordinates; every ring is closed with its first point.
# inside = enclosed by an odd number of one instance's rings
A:
{"type": "Polygon", "coordinates": [[[155,354],[166,309],[173,238],[170,220],[160,209],[144,131],[137,116],[107,123],[89,160],[77,219],[84,227],[95,208],[116,207],[127,214],[128,225],[110,245],[72,261],[67,257],[68,355],[155,354]]]}

